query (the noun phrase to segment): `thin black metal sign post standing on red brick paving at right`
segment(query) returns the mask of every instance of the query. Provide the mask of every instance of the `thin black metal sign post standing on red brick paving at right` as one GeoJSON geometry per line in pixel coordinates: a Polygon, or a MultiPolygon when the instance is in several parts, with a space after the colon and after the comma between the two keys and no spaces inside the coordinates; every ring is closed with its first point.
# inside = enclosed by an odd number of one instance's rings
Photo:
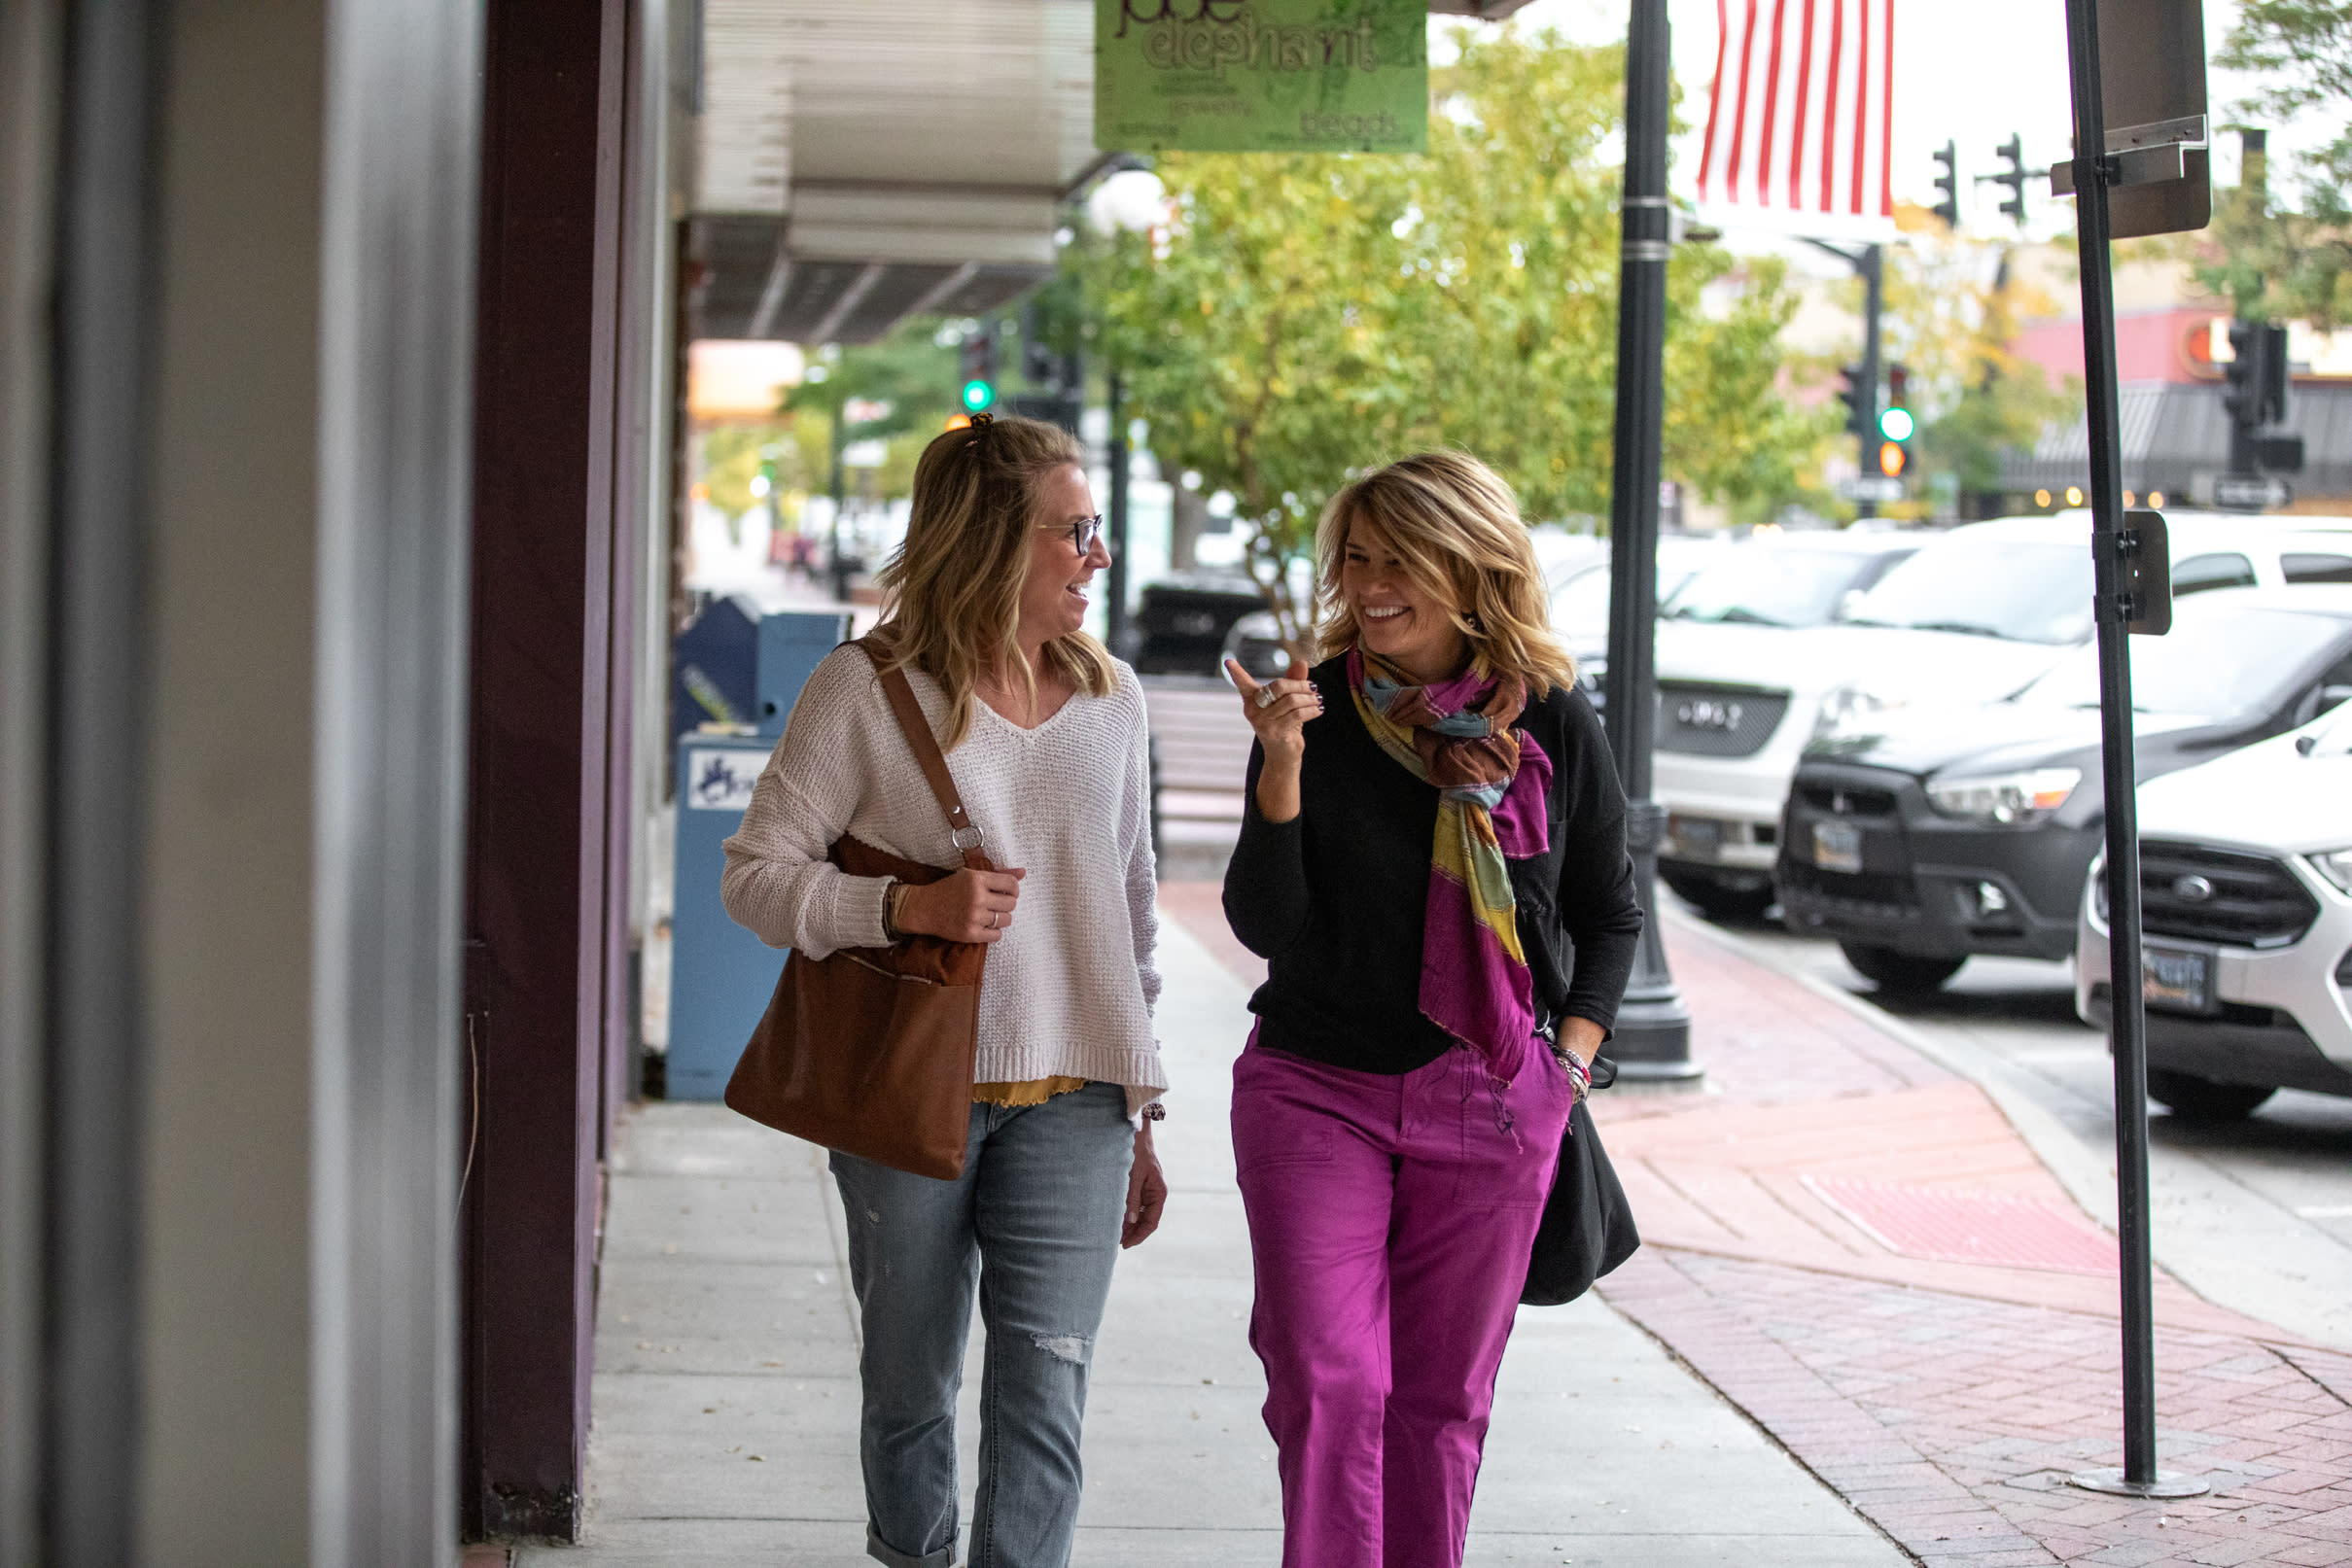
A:
{"type": "MultiPolygon", "coordinates": [[[[2084,402],[2091,435],[2091,569],[2098,623],[2098,705],[2100,705],[2100,778],[2107,809],[2107,976],[2112,997],[2114,1048],[2114,1185],[2117,1239],[2122,1244],[2122,1328],[2124,1328],[2124,1465],[2070,1476],[2074,1486],[2122,1493],[2129,1497],[2194,1497],[2204,1481],[2157,1469],[2157,1345],[2154,1345],[2154,1260],[2147,1215],[2147,1011],[2140,994],[2140,818],[2138,769],[2131,736],[2131,630],[2169,625],[2169,571],[2140,569],[2138,552],[2166,550],[2161,522],[2131,527],[2124,515],[2124,470],[2114,407],[2114,273],[2107,242],[2114,235],[2110,190],[2126,183],[2154,183],[2143,169],[2124,167],[2112,150],[2103,103],[2103,66],[2107,82],[2119,66],[2138,61],[2100,59],[2100,21],[2114,24],[2119,52],[2140,54],[2150,38],[2171,47],[2194,40],[2197,118],[2204,115],[2204,26],[2199,2],[2187,0],[2067,0],[2067,63],[2074,78],[2074,228],[2082,254],[2082,348],[2084,402]],[[2161,12],[2161,16],[2157,14],[2161,12]],[[2173,24],[2187,12],[2187,28],[2173,24]],[[2138,33],[2147,24],[2147,33],[2138,33]],[[2154,24],[2166,24],[2161,31],[2154,24]],[[2129,38],[2138,33],[2138,38],[2129,38]],[[2147,588],[2143,588],[2143,576],[2147,588]]],[[[2159,42],[2157,47],[2164,47],[2159,42]]],[[[2166,75],[2178,78],[2180,61],[2166,59],[2166,75]]],[[[2122,94],[2117,94],[2122,96],[2122,94]]],[[[2126,120],[2126,134],[2154,127],[2126,120]]],[[[2201,141],[2204,132],[2197,129],[2201,141]]],[[[2178,148],[2173,172],[2180,181],[2178,148]]],[[[2065,167],[2065,165],[2063,165],[2065,167]]],[[[2166,179],[2157,172],[2157,179],[2166,179]]],[[[2053,183],[2065,183],[2056,179],[2053,183]]],[[[2178,193],[2164,193],[2178,195],[2178,193]]],[[[2199,223],[2190,223],[2197,228],[2199,223]]],[[[2126,233],[2157,233],[2129,226],[2126,233]]],[[[2140,515],[2145,517],[2145,515],[2140,515]]],[[[2169,564],[2169,562],[2166,562],[2169,564]]],[[[2157,562],[2150,562],[2157,567],[2157,562]]]]}

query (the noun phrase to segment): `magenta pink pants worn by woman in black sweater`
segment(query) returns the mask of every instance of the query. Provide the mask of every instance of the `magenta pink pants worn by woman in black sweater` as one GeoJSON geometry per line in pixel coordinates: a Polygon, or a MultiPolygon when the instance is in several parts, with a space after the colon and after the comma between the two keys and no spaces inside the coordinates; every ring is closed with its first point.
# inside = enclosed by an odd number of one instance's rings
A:
{"type": "Polygon", "coordinates": [[[1463,1561],[1569,1105],[1548,1051],[1508,1091],[1461,1048],[1404,1077],[1258,1044],[1232,1065],[1284,1568],[1463,1561]]]}

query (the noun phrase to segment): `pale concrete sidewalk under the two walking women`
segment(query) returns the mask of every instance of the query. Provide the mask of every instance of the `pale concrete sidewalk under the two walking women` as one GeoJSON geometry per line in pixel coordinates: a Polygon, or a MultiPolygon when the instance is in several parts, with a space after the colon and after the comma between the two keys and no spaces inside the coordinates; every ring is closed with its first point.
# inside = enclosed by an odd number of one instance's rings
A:
{"type": "MultiPolygon", "coordinates": [[[[1247,985],[1167,922],[1169,1218],[1096,1347],[1075,1561],[1279,1561],[1249,1239],[1225,1138],[1247,985]]],[[[823,1154],[720,1107],[649,1105],[612,1166],[588,1526],[527,1563],[861,1563],[856,1331],[823,1154]]],[[[978,1340],[962,1415],[969,1486],[978,1340]]],[[[967,1493],[969,1519],[969,1493],[967,1493]]],[[[1472,1563],[1896,1566],[1907,1556],[1609,1305],[1526,1309],[1503,1363],[1472,1563]]]]}

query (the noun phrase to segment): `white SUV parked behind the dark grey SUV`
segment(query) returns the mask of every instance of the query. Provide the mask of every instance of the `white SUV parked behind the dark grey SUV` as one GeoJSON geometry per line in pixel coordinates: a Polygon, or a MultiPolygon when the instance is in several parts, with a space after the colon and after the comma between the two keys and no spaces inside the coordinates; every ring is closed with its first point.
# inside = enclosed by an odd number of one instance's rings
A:
{"type": "MultiPolygon", "coordinates": [[[[2166,512],[2173,590],[2352,583],[2352,520],[2166,512]]],[[[2091,515],[1929,536],[1830,625],[1658,621],[1658,875],[1762,914],[1804,748],[1844,724],[2009,696],[2091,637],[2091,515]]]]}

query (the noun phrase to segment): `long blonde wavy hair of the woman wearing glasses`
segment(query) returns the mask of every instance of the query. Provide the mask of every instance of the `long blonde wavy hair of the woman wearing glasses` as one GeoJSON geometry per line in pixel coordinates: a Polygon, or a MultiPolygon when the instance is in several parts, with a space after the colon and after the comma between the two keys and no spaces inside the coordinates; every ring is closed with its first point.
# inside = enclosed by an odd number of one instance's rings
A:
{"type": "MultiPolygon", "coordinates": [[[[915,461],[906,541],[882,567],[884,621],[866,637],[882,668],[913,665],[948,693],[943,750],[971,731],[971,693],[983,672],[1037,691],[1016,642],[1028,585],[1030,531],[1044,484],[1087,454],[1058,425],[993,418],[948,430],[915,461]]],[[[1089,696],[1110,696],[1110,649],[1073,632],[1044,644],[1044,661],[1089,696]]]]}

